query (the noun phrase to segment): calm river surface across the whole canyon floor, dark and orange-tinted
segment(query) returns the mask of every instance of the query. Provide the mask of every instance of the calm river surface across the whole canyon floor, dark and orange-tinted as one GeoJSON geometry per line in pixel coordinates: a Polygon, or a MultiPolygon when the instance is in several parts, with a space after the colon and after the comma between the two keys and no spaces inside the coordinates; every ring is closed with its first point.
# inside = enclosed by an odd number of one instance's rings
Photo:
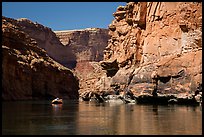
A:
{"type": "Polygon", "coordinates": [[[201,135],[202,107],[2,102],[3,135],[201,135]]]}

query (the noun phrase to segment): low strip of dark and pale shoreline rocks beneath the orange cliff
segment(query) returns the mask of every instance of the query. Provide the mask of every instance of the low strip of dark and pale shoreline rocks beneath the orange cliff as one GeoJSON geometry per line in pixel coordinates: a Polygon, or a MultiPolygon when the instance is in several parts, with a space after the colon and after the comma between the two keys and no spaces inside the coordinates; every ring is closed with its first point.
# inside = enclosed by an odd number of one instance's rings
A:
{"type": "Polygon", "coordinates": [[[97,103],[121,103],[121,104],[179,104],[179,105],[202,105],[202,87],[198,89],[196,94],[160,94],[152,95],[150,93],[142,93],[134,95],[131,91],[127,93],[116,92],[94,92],[87,91],[79,95],[81,101],[95,101],[97,103]]]}

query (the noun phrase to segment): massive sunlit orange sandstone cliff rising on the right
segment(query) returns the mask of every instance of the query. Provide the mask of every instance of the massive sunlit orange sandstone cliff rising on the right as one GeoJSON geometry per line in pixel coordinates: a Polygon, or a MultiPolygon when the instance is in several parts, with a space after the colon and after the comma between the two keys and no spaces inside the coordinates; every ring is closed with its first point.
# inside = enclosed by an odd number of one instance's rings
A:
{"type": "Polygon", "coordinates": [[[202,85],[202,2],[128,2],[113,16],[101,62],[111,85],[187,96],[202,85]]]}

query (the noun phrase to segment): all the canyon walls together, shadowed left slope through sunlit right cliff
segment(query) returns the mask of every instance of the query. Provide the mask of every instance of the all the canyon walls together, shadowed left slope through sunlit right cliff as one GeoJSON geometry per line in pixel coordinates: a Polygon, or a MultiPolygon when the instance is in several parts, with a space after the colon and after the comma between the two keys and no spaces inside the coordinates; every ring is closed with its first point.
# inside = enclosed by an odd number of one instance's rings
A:
{"type": "Polygon", "coordinates": [[[62,31],[2,17],[2,99],[202,88],[202,2],[127,2],[113,16],[107,29],[62,31]]]}

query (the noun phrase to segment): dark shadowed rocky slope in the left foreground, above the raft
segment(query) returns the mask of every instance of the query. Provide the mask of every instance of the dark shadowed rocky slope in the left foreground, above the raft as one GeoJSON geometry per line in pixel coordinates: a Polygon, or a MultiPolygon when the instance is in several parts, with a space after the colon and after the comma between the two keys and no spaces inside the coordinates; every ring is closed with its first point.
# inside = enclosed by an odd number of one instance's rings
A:
{"type": "Polygon", "coordinates": [[[2,17],[2,99],[78,99],[77,77],[16,24],[2,17]]]}

